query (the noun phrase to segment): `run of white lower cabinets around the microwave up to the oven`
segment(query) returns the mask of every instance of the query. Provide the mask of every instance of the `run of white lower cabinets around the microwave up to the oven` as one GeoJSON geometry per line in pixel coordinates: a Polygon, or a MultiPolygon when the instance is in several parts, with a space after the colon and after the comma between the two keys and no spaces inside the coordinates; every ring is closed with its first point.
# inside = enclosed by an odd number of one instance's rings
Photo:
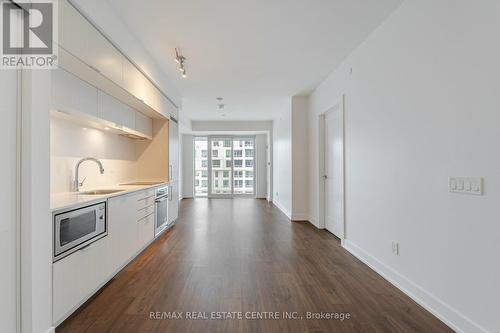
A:
{"type": "Polygon", "coordinates": [[[154,239],[154,189],[108,199],[108,235],[53,264],[53,323],[60,324],[154,239]]]}

